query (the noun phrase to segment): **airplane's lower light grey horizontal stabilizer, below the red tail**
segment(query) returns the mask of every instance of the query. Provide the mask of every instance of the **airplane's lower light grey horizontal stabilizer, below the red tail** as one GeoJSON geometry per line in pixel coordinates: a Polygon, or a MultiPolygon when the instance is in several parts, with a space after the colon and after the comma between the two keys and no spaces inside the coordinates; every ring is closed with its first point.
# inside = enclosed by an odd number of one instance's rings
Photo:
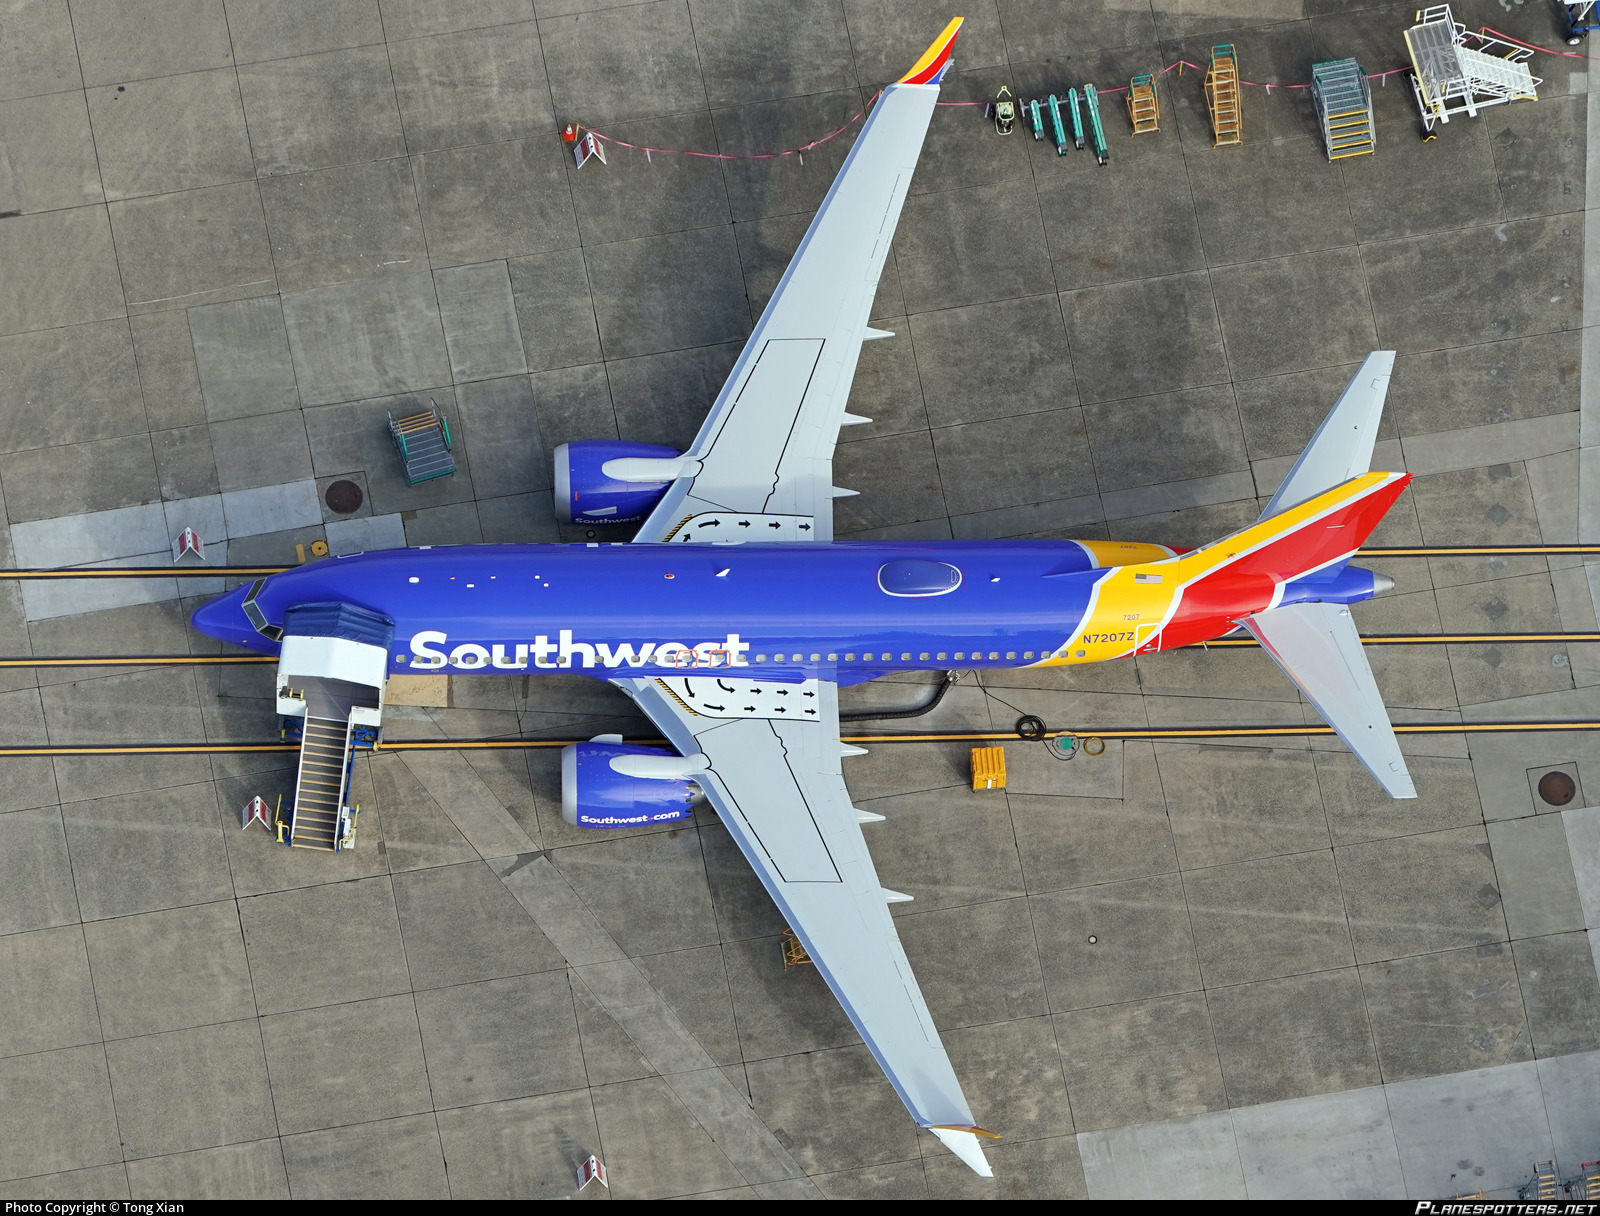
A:
{"type": "Polygon", "coordinates": [[[1291,603],[1240,621],[1306,699],[1344,739],[1392,798],[1416,787],[1389,725],[1371,664],[1350,610],[1339,603],[1291,603]]]}

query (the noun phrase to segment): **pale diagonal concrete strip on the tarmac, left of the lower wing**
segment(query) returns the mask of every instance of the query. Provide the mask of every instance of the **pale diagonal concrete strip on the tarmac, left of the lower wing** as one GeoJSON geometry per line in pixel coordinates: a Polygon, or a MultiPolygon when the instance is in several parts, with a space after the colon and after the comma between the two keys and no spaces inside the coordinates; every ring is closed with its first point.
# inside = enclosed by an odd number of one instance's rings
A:
{"type": "Polygon", "coordinates": [[[776,1184],[771,1198],[822,1198],[550,859],[538,856],[526,866],[518,861],[493,862],[501,882],[744,1179],[750,1186],[776,1184]]]}

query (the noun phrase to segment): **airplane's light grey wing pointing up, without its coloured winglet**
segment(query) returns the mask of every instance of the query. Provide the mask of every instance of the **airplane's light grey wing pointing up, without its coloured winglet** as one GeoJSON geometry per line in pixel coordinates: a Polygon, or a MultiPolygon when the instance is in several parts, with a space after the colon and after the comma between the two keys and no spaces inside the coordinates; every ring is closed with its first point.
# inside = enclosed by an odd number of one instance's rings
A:
{"type": "Polygon", "coordinates": [[[834,445],[938,98],[938,85],[883,90],[685,453],[693,472],[635,541],[834,539],[834,445]]]}

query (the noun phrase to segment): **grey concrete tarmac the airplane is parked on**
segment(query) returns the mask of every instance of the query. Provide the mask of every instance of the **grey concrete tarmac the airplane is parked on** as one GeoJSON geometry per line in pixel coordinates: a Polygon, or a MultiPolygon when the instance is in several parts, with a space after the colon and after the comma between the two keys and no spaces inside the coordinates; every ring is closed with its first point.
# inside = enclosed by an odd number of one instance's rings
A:
{"type": "MultiPolygon", "coordinates": [[[[1586,62],[1536,56],[1538,102],[1429,142],[1390,75],[1376,155],[1330,163],[1290,86],[1323,59],[1403,66],[1414,5],[1203,10],[966,10],[947,101],[1117,88],[1214,43],[1274,88],[1245,90],[1230,149],[1190,69],[1160,77],[1157,134],[1109,94],[1106,168],[976,106],[934,115],[874,310],[896,338],[851,395],[875,421],[840,437],[835,483],[862,491],[840,536],[1210,541],[1394,349],[1376,459],[1416,480],[1374,544],[1600,541],[1586,62]]],[[[1547,10],[1456,16],[1558,45],[1547,10]]],[[[550,453],[690,440],[856,128],[803,163],[613,146],[582,170],[558,128],[795,147],[949,16],[6,6],[0,562],[149,562],[181,526],[230,563],[586,539],[557,526],[550,453]],[[459,472],[406,486],[386,421],[430,402],[459,472]],[[357,510],[326,506],[334,480],[357,510]]],[[[1597,629],[1582,558],[1373,565],[1397,586],[1357,608],[1370,632],[1597,629]]],[[[205,651],[195,595],[0,587],[0,653],[205,651]]],[[[1371,661],[1400,720],[1600,714],[1594,643],[1371,661]]],[[[582,677],[414,699],[435,704],[392,707],[394,738],[650,731],[582,677]]],[[[1021,714],[1315,720],[1232,650],[987,675],[923,725],[1021,714]]],[[[6,742],[275,728],[269,669],[0,670],[6,742]]],[[[866,829],[885,885],[915,896],[894,912],[955,1070],[1003,1134],[994,1181],[910,1123],[814,970],[782,966],[782,922],[710,813],[582,834],[554,755],[379,754],[357,763],[357,846],[328,856],[238,827],[291,790],[283,757],[0,760],[0,1195],[570,1197],[589,1154],[611,1189],[582,1198],[1437,1198],[1509,1194],[1546,1154],[1576,1173],[1600,1157],[1573,1098],[1600,1051],[1595,738],[1403,746],[1408,803],[1326,739],[1070,763],[1016,742],[1003,794],[970,789],[960,744],[846,760],[886,816],[866,829]],[[1552,768],[1565,808],[1538,794],[1552,768]]]]}

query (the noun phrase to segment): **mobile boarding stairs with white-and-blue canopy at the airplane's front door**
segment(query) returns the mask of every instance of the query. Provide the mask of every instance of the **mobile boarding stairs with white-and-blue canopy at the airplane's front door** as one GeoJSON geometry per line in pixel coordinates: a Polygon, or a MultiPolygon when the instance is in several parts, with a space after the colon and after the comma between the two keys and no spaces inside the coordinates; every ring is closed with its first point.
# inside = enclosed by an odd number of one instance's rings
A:
{"type": "Polygon", "coordinates": [[[278,806],[280,843],[339,853],[355,843],[355,754],[378,746],[394,622],[352,603],[302,603],[283,614],[278,720],[299,741],[294,800],[278,806]]]}

